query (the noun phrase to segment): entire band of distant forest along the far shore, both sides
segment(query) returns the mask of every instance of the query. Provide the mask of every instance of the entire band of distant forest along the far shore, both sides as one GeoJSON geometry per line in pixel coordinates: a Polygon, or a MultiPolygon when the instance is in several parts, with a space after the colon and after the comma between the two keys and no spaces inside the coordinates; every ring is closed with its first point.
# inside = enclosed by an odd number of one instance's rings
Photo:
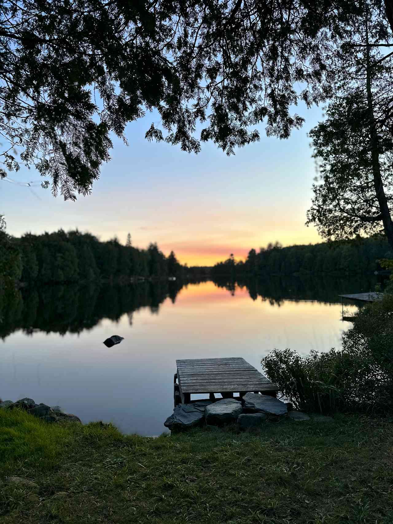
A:
{"type": "Polygon", "coordinates": [[[251,249],[245,261],[227,260],[208,267],[182,266],[173,251],[166,257],[157,244],[147,249],[107,242],[78,230],[20,238],[0,232],[0,276],[26,283],[130,282],[138,278],[213,280],[260,278],[266,275],[370,274],[381,270],[378,260],[392,258],[386,238],[375,236],[351,243],[282,247],[278,242],[251,249]]]}

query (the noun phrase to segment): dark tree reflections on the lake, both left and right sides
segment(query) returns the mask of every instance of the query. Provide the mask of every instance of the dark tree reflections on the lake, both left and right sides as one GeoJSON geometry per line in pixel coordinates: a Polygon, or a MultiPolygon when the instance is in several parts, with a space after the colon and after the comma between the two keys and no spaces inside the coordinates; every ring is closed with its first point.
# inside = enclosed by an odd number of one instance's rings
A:
{"type": "MultiPolygon", "coordinates": [[[[192,284],[198,283],[197,280],[192,284]]],[[[339,293],[374,290],[377,277],[358,279],[270,277],[265,280],[215,280],[216,286],[232,295],[237,288],[246,288],[250,298],[267,300],[280,305],[283,300],[315,300],[337,303],[339,293]]],[[[132,286],[42,286],[23,288],[12,292],[0,289],[0,337],[22,329],[25,334],[35,331],[60,334],[80,333],[94,328],[102,319],[118,321],[124,314],[132,325],[133,313],[149,308],[159,313],[160,304],[169,298],[176,301],[179,291],[187,289],[187,282],[141,282],[132,286]]]]}

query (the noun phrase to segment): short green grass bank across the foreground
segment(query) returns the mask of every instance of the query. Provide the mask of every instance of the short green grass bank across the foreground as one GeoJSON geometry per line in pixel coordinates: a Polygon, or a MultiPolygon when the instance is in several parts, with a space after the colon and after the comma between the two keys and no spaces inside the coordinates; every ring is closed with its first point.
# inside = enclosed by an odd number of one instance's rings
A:
{"type": "Polygon", "coordinates": [[[61,428],[31,418],[30,438],[29,417],[15,417],[17,440],[0,440],[0,457],[8,457],[0,478],[29,478],[39,490],[0,486],[2,524],[392,522],[387,419],[337,416],[266,423],[254,433],[228,427],[152,439],[112,425],[61,428]]]}

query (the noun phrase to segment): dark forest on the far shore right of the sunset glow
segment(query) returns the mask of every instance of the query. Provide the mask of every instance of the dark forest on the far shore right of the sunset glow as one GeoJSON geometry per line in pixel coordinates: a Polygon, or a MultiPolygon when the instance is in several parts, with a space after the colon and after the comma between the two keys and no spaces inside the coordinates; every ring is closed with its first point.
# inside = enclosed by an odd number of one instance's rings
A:
{"type": "Polygon", "coordinates": [[[278,242],[251,249],[245,261],[234,256],[216,264],[212,278],[263,277],[297,274],[369,274],[381,270],[378,259],[392,258],[385,237],[362,238],[350,243],[324,242],[314,245],[282,247],[278,242]]]}

